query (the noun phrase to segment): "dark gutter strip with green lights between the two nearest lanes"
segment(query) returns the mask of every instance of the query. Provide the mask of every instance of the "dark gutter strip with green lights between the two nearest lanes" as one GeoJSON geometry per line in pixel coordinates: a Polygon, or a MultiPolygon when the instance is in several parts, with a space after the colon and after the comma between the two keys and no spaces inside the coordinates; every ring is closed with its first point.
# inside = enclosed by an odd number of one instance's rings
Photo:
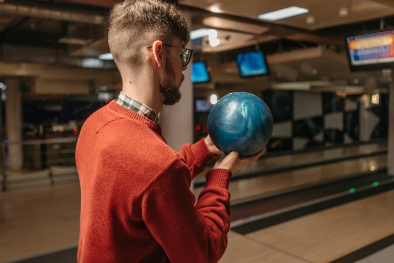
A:
{"type": "MultiPolygon", "coordinates": [[[[360,198],[359,195],[362,193],[383,190],[382,187],[374,188],[376,183],[377,186],[389,187],[387,182],[391,181],[391,177],[384,172],[370,172],[301,191],[274,195],[239,205],[233,204],[231,228],[241,234],[253,232],[262,226],[273,226],[344,202],[349,203],[360,198]],[[370,189],[371,187],[373,189],[370,189]],[[350,189],[357,191],[357,194],[352,194],[350,189]]],[[[394,181],[392,184],[394,187],[394,181]]]]}

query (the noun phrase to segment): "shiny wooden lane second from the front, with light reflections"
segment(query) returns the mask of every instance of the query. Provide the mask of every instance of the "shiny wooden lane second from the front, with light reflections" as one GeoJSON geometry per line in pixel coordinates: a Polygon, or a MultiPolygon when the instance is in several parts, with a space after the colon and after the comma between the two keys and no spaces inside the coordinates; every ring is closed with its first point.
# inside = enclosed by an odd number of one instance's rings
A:
{"type": "MultiPolygon", "coordinates": [[[[241,203],[256,197],[268,196],[290,189],[306,188],[322,182],[343,179],[352,175],[383,169],[386,166],[387,155],[381,154],[231,181],[229,185],[231,202],[232,204],[241,203]]],[[[203,189],[204,187],[194,188],[194,194],[198,196],[203,189]]]]}

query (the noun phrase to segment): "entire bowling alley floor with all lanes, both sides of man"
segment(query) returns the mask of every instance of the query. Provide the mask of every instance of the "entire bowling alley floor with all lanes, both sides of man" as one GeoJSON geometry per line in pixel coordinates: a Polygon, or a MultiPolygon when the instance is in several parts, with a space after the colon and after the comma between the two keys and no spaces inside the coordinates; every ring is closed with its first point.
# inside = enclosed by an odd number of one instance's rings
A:
{"type": "MultiPolygon", "coordinates": [[[[378,152],[385,147],[232,181],[232,226],[220,262],[392,262],[394,178],[378,152]]],[[[79,215],[78,182],[0,193],[0,262],[76,262],[79,215]]]]}

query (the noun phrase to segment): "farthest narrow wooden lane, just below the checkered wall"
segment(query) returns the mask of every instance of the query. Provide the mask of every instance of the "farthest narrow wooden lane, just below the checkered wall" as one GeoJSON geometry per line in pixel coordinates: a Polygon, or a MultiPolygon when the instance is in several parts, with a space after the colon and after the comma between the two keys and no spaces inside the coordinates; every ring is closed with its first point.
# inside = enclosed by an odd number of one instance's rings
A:
{"type": "MultiPolygon", "coordinates": [[[[317,162],[341,160],[353,156],[369,155],[376,152],[387,151],[387,142],[366,144],[359,146],[340,147],[321,151],[313,151],[300,154],[290,154],[276,157],[264,157],[256,162],[250,163],[234,173],[233,178],[244,177],[247,174],[258,172],[270,172],[280,168],[307,165],[317,162]]],[[[205,182],[205,174],[212,169],[208,166],[202,174],[195,178],[197,186],[205,182]]]]}

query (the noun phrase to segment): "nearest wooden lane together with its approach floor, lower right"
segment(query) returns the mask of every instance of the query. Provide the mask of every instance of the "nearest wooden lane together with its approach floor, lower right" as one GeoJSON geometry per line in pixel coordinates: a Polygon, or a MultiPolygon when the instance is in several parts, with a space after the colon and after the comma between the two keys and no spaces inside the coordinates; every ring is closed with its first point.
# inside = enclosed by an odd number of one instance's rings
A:
{"type": "Polygon", "coordinates": [[[371,246],[384,239],[386,245],[394,242],[393,201],[391,190],[248,234],[231,232],[220,262],[384,262],[367,261],[374,256],[392,260],[392,246],[382,255],[371,246]]]}

